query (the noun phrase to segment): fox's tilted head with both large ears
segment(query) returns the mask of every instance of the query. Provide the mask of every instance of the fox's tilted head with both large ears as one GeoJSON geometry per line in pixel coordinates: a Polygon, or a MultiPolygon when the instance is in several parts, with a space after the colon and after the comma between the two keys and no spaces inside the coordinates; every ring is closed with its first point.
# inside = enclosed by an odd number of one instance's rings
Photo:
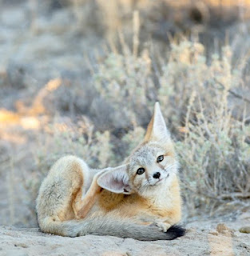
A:
{"type": "Polygon", "coordinates": [[[168,186],[177,170],[173,142],[157,102],[143,142],[133,150],[125,165],[111,168],[97,183],[114,193],[137,192],[145,196],[159,186],[168,186]]]}

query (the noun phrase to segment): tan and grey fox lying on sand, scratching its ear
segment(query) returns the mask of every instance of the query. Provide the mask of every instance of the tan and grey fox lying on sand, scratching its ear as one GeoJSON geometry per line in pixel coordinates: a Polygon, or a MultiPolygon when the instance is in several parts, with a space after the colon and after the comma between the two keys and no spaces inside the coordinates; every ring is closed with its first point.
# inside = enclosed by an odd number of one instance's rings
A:
{"type": "Polygon", "coordinates": [[[66,156],[52,166],[37,198],[43,232],[62,236],[112,235],[138,240],[170,240],[180,226],[178,162],[159,103],[144,141],[125,164],[91,170],[66,156]]]}

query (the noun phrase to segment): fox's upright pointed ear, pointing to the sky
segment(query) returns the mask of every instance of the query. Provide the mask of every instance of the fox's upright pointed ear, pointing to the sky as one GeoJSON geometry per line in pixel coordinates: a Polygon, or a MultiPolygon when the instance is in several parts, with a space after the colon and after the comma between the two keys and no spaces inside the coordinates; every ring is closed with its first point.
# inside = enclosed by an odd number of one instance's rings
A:
{"type": "Polygon", "coordinates": [[[149,122],[144,141],[167,141],[170,139],[170,133],[165,124],[159,102],[154,105],[153,118],[149,122]]]}

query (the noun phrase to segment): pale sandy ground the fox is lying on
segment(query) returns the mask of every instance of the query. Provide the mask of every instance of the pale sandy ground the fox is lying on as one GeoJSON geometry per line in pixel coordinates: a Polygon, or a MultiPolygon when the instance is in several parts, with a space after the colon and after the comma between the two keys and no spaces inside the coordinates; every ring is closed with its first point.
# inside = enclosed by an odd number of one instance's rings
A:
{"type": "Polygon", "coordinates": [[[247,256],[250,255],[250,234],[240,233],[239,229],[241,226],[250,226],[248,217],[226,224],[216,220],[192,222],[186,226],[187,234],[184,237],[154,242],[94,235],[63,238],[43,234],[37,228],[0,226],[0,255],[247,256]]]}

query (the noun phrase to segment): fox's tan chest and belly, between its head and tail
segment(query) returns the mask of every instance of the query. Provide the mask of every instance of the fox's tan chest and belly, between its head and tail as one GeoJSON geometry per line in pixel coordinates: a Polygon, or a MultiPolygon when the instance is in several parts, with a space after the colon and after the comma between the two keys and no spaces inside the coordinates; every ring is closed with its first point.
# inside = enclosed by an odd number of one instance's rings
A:
{"type": "Polygon", "coordinates": [[[173,180],[172,186],[159,194],[161,198],[168,198],[165,202],[156,197],[143,198],[139,194],[114,194],[107,190],[102,190],[98,195],[98,206],[101,211],[109,212],[115,210],[125,217],[136,217],[138,223],[146,219],[151,223],[169,222],[171,226],[181,220],[181,195],[177,177],[173,180]]]}

